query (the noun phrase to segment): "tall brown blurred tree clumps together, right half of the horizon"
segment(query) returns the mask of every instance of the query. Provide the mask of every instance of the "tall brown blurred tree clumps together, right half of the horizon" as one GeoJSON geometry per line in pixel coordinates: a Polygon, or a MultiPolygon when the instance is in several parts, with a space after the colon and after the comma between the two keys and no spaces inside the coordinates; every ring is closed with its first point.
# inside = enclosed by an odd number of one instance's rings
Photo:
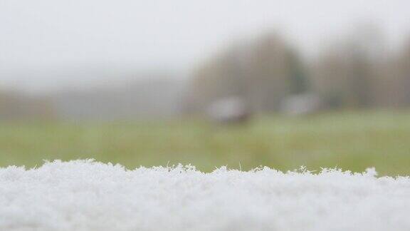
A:
{"type": "Polygon", "coordinates": [[[324,109],[410,106],[410,38],[391,51],[376,27],[365,26],[317,50],[303,58],[277,33],[233,44],[196,69],[185,109],[237,97],[268,113],[293,96],[316,96],[324,109]]]}

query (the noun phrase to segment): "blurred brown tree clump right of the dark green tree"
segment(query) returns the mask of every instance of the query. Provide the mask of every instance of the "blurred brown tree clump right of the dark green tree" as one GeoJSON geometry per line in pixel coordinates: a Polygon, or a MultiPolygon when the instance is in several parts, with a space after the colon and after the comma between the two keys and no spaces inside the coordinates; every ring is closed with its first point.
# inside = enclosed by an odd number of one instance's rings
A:
{"type": "Polygon", "coordinates": [[[383,46],[378,30],[359,26],[347,39],[334,43],[313,68],[315,91],[332,106],[376,106],[378,68],[383,46]]]}

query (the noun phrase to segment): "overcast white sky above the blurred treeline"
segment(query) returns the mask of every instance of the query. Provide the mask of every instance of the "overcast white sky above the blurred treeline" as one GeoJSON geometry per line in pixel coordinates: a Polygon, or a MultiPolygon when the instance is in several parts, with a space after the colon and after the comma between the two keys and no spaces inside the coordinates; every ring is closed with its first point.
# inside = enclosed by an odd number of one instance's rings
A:
{"type": "Polygon", "coordinates": [[[268,29],[312,53],[372,21],[396,46],[410,34],[409,9],[409,0],[0,0],[0,86],[88,78],[13,74],[61,66],[186,71],[224,43],[268,29]]]}

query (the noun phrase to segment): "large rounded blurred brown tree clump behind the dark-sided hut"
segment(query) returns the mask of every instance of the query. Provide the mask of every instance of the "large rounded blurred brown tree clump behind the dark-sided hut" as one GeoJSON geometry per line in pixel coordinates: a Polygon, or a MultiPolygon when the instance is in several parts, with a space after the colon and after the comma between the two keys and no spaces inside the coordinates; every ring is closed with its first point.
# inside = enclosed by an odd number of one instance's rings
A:
{"type": "Polygon", "coordinates": [[[298,57],[278,34],[229,47],[194,73],[189,108],[203,111],[212,102],[239,97],[254,112],[275,111],[291,93],[308,87],[298,57]]]}

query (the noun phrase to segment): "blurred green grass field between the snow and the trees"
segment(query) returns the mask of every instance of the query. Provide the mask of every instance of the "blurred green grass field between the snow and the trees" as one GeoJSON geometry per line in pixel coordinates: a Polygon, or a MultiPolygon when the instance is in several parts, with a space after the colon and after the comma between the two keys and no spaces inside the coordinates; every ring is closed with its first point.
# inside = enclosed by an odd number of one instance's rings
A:
{"type": "Polygon", "coordinates": [[[204,121],[110,123],[0,123],[0,165],[94,158],[140,165],[191,163],[248,170],[305,165],[410,175],[410,112],[325,113],[304,118],[271,116],[241,126],[204,121]]]}

